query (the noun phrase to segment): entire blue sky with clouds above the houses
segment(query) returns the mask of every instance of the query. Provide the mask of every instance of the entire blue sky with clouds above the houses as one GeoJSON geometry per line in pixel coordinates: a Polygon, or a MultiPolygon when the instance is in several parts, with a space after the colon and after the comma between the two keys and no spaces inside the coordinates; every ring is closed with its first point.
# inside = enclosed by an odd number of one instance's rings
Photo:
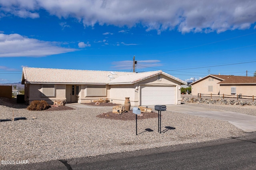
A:
{"type": "Polygon", "coordinates": [[[0,83],[22,67],[253,76],[256,1],[0,0],[0,83]]]}

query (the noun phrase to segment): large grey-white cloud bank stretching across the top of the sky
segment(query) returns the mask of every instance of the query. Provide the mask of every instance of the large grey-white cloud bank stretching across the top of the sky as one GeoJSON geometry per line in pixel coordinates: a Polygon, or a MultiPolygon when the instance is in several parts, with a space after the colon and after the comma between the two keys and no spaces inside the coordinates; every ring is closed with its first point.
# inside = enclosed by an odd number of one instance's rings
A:
{"type": "Polygon", "coordinates": [[[76,18],[84,26],[141,24],[158,34],[176,28],[182,33],[219,33],[247,29],[256,22],[254,0],[0,0],[2,17],[38,18],[40,9],[59,18],[76,18]]]}

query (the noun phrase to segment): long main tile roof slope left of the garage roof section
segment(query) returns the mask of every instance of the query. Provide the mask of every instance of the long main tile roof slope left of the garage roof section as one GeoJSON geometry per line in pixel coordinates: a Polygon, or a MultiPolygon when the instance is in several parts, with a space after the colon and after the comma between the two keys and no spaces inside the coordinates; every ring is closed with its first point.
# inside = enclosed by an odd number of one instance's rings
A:
{"type": "Polygon", "coordinates": [[[52,84],[107,84],[110,79],[131,72],[28,68],[22,70],[22,82],[52,84]]]}

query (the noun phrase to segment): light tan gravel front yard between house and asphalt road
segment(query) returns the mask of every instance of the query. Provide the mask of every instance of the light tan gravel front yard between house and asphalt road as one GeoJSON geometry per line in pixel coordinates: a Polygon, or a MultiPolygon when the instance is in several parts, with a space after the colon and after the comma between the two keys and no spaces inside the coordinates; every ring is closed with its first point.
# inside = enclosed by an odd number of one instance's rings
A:
{"type": "Polygon", "coordinates": [[[26,105],[6,104],[0,100],[0,119],[12,119],[13,113],[14,117],[26,117],[26,120],[0,122],[0,160],[28,160],[29,163],[63,160],[207,142],[244,133],[227,121],[163,111],[164,133],[158,133],[158,118],[155,117],[138,120],[136,135],[135,120],[97,117],[112,111],[112,107],[72,108],[29,111],[26,105]]]}

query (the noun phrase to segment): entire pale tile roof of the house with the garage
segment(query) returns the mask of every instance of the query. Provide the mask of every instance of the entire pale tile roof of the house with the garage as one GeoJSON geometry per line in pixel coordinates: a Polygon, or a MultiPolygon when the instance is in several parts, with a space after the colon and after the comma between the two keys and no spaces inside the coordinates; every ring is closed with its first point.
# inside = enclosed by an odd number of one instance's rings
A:
{"type": "Polygon", "coordinates": [[[133,84],[157,74],[164,74],[182,84],[186,84],[186,82],[162,72],[161,70],[135,73],[29,67],[24,67],[22,70],[22,84],[133,84]]]}

